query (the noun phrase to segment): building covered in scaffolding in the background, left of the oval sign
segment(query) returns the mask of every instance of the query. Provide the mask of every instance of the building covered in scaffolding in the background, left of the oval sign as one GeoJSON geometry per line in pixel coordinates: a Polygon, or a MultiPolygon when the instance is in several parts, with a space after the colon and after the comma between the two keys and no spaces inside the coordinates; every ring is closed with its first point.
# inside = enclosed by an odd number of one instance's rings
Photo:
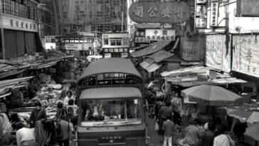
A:
{"type": "Polygon", "coordinates": [[[125,31],[127,0],[57,0],[61,33],[125,31]]]}

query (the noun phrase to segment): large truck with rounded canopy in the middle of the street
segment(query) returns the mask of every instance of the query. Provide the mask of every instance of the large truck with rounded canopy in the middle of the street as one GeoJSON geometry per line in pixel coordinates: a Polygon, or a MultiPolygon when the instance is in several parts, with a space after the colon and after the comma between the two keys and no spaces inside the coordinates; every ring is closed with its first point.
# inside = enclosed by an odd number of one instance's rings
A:
{"type": "Polygon", "coordinates": [[[132,61],[93,61],[78,79],[77,94],[78,146],[146,145],[144,80],[132,61]]]}

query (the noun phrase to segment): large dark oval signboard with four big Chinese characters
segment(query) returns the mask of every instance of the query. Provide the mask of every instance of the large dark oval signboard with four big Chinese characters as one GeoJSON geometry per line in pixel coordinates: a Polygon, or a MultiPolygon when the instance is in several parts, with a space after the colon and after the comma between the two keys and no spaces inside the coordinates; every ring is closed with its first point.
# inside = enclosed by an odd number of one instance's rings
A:
{"type": "Polygon", "coordinates": [[[139,1],[129,7],[129,18],[137,23],[179,24],[189,16],[189,6],[179,1],[139,1]]]}

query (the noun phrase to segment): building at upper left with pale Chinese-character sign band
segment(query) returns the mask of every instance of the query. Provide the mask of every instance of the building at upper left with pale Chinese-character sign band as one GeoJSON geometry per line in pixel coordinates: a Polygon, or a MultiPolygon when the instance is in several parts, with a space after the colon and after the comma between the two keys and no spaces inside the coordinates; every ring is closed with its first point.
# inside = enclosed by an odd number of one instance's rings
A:
{"type": "Polygon", "coordinates": [[[2,0],[2,5],[5,58],[41,51],[38,3],[31,0],[2,0]]]}

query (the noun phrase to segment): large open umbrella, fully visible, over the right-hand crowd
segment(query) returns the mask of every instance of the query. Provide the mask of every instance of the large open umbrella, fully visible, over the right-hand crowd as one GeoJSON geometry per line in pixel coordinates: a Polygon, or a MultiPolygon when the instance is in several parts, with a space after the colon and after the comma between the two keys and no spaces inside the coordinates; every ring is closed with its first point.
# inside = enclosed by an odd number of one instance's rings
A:
{"type": "Polygon", "coordinates": [[[197,85],[181,91],[181,96],[203,105],[223,106],[242,103],[242,97],[216,85],[197,85]]]}

